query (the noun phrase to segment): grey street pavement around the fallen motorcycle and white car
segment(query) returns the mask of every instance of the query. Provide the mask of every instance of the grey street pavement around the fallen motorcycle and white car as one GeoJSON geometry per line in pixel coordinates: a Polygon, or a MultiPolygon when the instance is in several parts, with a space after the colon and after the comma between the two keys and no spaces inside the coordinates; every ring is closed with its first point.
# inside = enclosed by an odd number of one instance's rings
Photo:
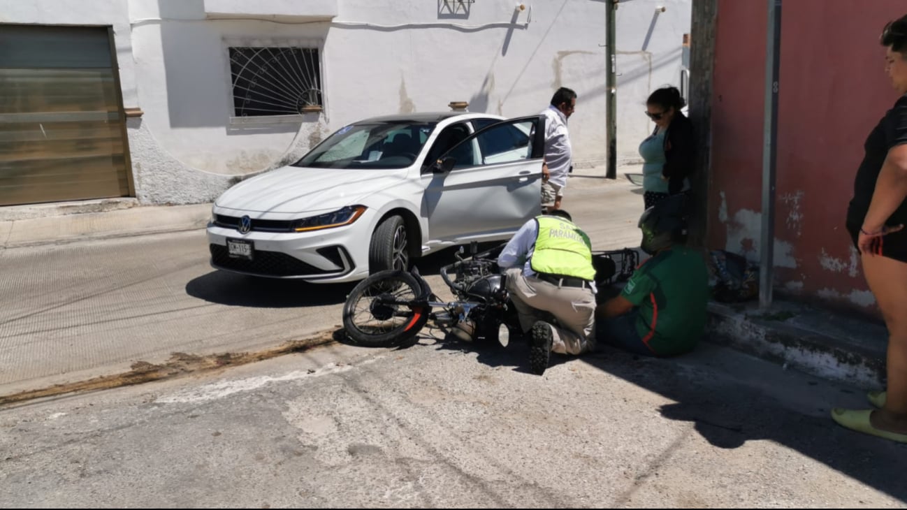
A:
{"type": "MultiPolygon", "coordinates": [[[[638,244],[639,194],[582,179],[565,203],[595,247],[638,244]]],[[[907,448],[828,417],[865,406],[861,390],[727,348],[675,360],[602,348],[543,377],[520,345],[431,335],[276,356],[336,330],[352,286],[211,270],[200,231],[0,250],[0,267],[0,396],[170,370],[0,408],[4,507],[907,501],[907,448]],[[225,353],[275,356],[223,367],[225,353]]]]}

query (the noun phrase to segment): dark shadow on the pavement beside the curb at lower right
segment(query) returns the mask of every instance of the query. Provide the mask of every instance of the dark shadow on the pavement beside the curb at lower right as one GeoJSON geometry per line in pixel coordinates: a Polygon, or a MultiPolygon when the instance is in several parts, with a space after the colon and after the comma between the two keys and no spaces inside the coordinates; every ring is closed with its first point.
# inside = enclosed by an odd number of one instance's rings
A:
{"type": "Polygon", "coordinates": [[[831,406],[868,408],[862,395],[841,389],[829,397],[827,390],[819,391],[825,389],[820,385],[828,384],[822,379],[797,378],[805,381],[802,387],[789,387],[788,379],[771,373],[721,367],[720,351],[706,344],[689,359],[654,359],[604,347],[583,360],[674,400],[658,409],[661,415],[693,423],[713,446],[737,448],[747,441],[772,441],[907,501],[902,478],[907,445],[851,432],[829,416],[831,406]]]}

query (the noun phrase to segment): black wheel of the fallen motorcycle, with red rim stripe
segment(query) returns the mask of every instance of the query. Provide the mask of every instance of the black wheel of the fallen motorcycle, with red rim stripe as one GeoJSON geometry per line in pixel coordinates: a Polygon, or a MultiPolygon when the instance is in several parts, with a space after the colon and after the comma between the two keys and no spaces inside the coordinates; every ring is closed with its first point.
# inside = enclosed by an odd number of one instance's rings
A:
{"type": "Polygon", "coordinates": [[[379,271],[360,281],[344,303],[346,335],[366,347],[392,347],[414,338],[431,309],[401,303],[414,301],[422,291],[421,282],[402,270],[379,271]]]}

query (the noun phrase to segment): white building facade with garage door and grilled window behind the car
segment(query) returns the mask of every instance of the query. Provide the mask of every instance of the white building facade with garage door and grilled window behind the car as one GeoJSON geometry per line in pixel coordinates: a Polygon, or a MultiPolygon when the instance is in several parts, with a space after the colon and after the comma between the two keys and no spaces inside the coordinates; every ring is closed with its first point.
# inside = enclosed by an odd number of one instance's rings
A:
{"type": "MultiPolygon", "coordinates": [[[[600,0],[0,0],[0,206],[212,201],[346,123],[539,113],[567,86],[578,168],[606,161],[600,0]]],[[[691,0],[619,5],[618,159],[680,85],[691,0]]]]}

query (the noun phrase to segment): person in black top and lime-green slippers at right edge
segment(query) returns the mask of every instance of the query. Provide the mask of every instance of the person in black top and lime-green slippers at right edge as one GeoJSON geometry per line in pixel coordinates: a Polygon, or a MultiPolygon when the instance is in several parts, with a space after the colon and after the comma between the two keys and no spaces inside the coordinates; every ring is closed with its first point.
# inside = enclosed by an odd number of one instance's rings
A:
{"type": "Polygon", "coordinates": [[[907,443],[907,15],[885,25],[881,42],[885,72],[901,97],[864,143],[846,227],[888,327],[888,387],[868,396],[879,409],[834,408],[832,417],[844,427],[907,443]]]}

